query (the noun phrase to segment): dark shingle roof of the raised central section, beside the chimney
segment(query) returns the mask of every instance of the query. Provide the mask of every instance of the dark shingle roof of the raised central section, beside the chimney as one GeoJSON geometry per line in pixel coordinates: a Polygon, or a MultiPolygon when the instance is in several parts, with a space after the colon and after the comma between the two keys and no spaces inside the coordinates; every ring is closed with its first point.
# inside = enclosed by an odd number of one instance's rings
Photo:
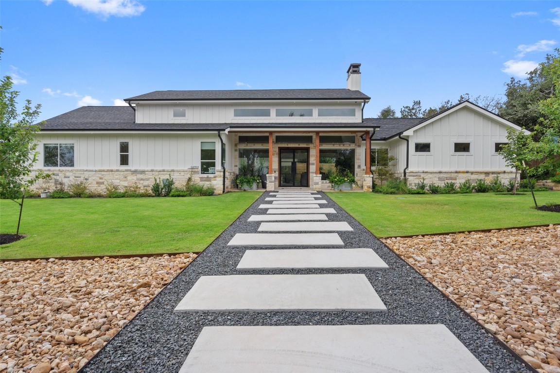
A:
{"type": "Polygon", "coordinates": [[[141,100],[369,100],[350,89],[234,89],[231,91],[153,91],[125,98],[141,100]]]}

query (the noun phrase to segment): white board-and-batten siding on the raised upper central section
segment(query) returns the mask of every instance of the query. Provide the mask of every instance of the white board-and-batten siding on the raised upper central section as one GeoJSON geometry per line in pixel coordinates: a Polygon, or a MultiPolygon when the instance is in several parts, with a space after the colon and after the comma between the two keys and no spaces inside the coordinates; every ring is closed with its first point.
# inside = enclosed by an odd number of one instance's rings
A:
{"type": "Polygon", "coordinates": [[[360,103],[355,102],[332,102],[332,103],[310,103],[305,105],[302,103],[266,103],[262,105],[251,103],[247,105],[220,105],[211,103],[174,103],[168,105],[147,104],[136,105],[136,122],[137,123],[275,123],[275,122],[346,122],[361,123],[362,107],[360,103]],[[270,108],[269,117],[234,117],[234,108],[270,108]],[[312,108],[313,116],[302,117],[277,117],[277,108],[312,108]],[[318,108],[354,108],[356,115],[352,117],[329,117],[318,116],[318,108]],[[185,109],[185,117],[173,117],[174,109],[185,109]]]}

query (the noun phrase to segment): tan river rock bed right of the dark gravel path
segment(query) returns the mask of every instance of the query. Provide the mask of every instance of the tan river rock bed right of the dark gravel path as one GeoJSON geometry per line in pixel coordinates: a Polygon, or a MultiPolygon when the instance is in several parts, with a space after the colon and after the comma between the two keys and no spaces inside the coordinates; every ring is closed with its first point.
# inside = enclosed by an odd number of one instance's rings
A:
{"type": "Polygon", "coordinates": [[[540,372],[560,373],[560,225],[382,241],[540,372]]]}

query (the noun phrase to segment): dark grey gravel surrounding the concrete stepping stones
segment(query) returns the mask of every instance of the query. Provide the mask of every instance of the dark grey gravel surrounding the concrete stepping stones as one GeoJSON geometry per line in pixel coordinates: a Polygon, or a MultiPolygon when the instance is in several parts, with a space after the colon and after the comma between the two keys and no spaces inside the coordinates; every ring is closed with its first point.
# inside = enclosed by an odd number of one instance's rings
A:
{"type": "MultiPolygon", "coordinates": [[[[346,247],[372,248],[389,265],[388,270],[265,270],[251,275],[363,273],[388,308],[387,312],[185,312],[173,309],[200,276],[240,275],[235,267],[246,249],[227,247],[235,233],[256,233],[260,222],[249,222],[269,192],[263,193],[208,248],[163,289],[94,357],[81,372],[178,372],[198,334],[212,325],[356,325],[356,324],[445,324],[492,373],[531,372],[480,325],[447,299],[430,282],[386,247],[325,193],[337,214],[329,221],[347,221],[353,232],[339,232],[346,247]]],[[[295,232],[297,233],[297,232],[295,232]]],[[[268,247],[272,249],[274,247],[268,247]]],[[[290,248],[290,247],[284,247],[290,248]]]]}

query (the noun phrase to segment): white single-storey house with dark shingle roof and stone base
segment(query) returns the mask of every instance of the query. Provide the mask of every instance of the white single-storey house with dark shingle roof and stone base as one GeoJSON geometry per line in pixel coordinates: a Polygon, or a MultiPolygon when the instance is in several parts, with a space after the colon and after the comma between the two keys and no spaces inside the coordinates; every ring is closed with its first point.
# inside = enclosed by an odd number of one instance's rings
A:
{"type": "Polygon", "coordinates": [[[369,191],[370,160],[388,151],[410,183],[512,177],[496,153],[507,128],[521,130],[512,122],[468,101],[427,119],[364,119],[360,77],[351,64],[346,89],[155,91],[125,99],[129,107],[80,107],[41,124],[37,168],[92,191],[149,188],[171,174],[179,186],[192,177],[221,193],[256,155],[268,190],[327,190],[336,164],[369,191]]]}

